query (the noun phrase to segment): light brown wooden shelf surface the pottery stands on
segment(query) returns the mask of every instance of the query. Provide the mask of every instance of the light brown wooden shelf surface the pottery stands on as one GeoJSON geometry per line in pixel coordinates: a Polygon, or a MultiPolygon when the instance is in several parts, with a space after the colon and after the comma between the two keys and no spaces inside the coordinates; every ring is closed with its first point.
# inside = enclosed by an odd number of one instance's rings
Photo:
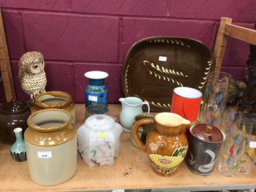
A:
{"type": "MultiPolygon", "coordinates": [[[[120,110],[120,105],[109,105],[110,115],[116,116],[118,121],[120,110]]],[[[76,104],[76,114],[79,128],[84,123],[84,104],[76,104]]],[[[28,163],[14,161],[9,150],[10,145],[0,143],[0,191],[212,191],[256,188],[256,166],[251,173],[237,172],[234,177],[221,175],[215,166],[212,175],[201,176],[191,172],[183,162],[171,177],[156,175],[147,154],[133,147],[130,133],[125,131],[121,134],[120,153],[113,166],[89,168],[78,156],[75,175],[56,186],[41,186],[33,182],[29,177],[28,163]]]]}

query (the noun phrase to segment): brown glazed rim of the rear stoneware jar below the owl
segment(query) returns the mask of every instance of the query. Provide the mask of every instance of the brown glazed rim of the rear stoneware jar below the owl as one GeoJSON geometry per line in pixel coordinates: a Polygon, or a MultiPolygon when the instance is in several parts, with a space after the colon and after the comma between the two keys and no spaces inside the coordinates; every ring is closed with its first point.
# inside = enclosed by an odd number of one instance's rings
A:
{"type": "Polygon", "coordinates": [[[72,98],[65,92],[44,92],[34,99],[35,106],[40,109],[61,109],[69,106],[72,98]]]}

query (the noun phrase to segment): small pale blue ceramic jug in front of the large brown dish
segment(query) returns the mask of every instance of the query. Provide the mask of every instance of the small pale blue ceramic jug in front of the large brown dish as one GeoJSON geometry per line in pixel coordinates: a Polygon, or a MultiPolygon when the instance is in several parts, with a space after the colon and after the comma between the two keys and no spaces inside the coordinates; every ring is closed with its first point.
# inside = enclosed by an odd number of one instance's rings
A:
{"type": "Polygon", "coordinates": [[[143,113],[142,106],[145,104],[148,106],[147,113],[150,112],[150,106],[148,102],[143,102],[138,97],[125,97],[120,98],[119,101],[122,104],[120,112],[120,124],[124,131],[131,132],[132,124],[134,123],[134,116],[143,113]]]}

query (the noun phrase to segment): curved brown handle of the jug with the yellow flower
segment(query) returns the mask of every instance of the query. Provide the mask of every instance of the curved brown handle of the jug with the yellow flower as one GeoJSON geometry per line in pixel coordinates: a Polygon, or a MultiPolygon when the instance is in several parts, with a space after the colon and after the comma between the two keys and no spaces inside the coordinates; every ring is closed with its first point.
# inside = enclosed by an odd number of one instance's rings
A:
{"type": "Polygon", "coordinates": [[[135,124],[132,126],[132,135],[134,138],[134,141],[137,143],[138,147],[146,152],[146,145],[142,143],[140,140],[139,134],[138,134],[138,128],[140,125],[145,125],[145,124],[154,124],[154,119],[152,118],[143,118],[141,120],[138,120],[135,122],[135,124]]]}

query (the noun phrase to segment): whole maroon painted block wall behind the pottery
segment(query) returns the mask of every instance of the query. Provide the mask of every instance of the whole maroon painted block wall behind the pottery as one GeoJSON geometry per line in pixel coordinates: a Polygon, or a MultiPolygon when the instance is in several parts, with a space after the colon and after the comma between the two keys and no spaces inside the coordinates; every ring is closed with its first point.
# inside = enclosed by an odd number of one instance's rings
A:
{"type": "MultiPolygon", "coordinates": [[[[221,17],[253,28],[256,1],[186,0],[0,0],[17,99],[28,100],[19,84],[18,62],[28,51],[45,58],[47,91],[68,92],[84,102],[84,73],[109,73],[109,103],[119,103],[122,65],[131,46],[148,36],[184,36],[214,49],[221,17]]],[[[221,70],[241,80],[249,45],[228,40],[221,70]]],[[[0,102],[5,101],[0,84],[0,102]]]]}

